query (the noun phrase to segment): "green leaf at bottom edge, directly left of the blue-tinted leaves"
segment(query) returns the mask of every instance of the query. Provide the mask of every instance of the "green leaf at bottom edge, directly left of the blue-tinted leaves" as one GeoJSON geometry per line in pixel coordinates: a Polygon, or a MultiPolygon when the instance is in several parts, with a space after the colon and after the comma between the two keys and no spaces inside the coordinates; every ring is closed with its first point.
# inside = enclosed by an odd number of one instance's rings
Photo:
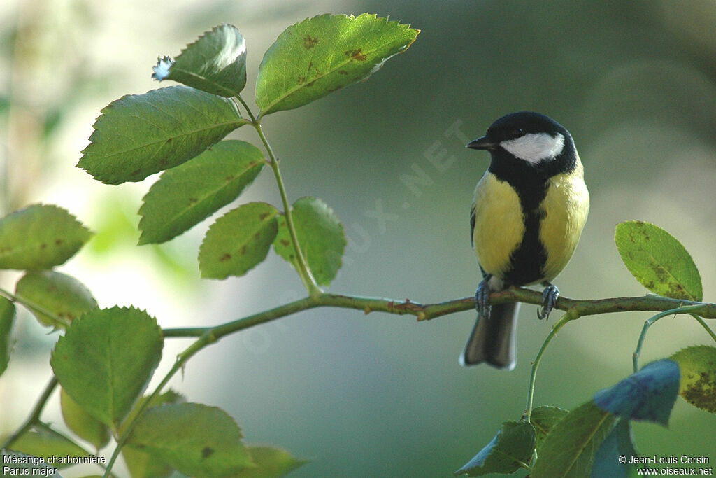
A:
{"type": "Polygon", "coordinates": [[[588,477],[596,451],[616,417],[589,401],[570,411],[547,435],[532,478],[588,477]]]}

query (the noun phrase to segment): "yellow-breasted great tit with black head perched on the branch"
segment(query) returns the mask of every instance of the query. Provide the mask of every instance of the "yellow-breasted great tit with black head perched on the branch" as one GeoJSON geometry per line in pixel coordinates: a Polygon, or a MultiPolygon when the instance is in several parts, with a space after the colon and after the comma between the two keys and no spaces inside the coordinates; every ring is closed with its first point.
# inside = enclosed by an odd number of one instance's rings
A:
{"type": "Polygon", "coordinates": [[[541,283],[549,315],[559,295],[551,284],[571,259],[589,212],[584,168],[569,131],[548,116],[505,115],[467,145],[490,151],[475,187],[470,239],[483,279],[475,292],[478,321],[460,356],[463,365],[516,365],[518,303],[490,307],[490,292],[541,283]]]}

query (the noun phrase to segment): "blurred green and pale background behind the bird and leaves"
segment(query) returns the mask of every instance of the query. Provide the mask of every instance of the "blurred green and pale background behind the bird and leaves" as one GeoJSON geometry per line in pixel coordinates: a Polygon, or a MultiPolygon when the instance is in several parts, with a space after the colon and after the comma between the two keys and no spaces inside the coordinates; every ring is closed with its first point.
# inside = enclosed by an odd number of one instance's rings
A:
{"type": "MultiPolygon", "coordinates": [[[[102,307],[133,304],[164,327],[217,324],[301,297],[298,277],[273,253],[246,277],[201,281],[196,252],[207,224],[161,247],[135,247],[135,213],[154,178],[102,186],[74,164],[102,107],[158,87],[150,80],[156,57],[178,54],[216,24],[234,24],[246,37],[250,99],[261,56],[285,27],[315,14],[364,11],[422,33],[367,82],[264,121],[291,201],[320,197],[347,231],[344,266],[330,290],[419,302],[473,294],[479,272],[468,211],[488,155],[465,150],[465,139],[500,115],[536,110],[570,130],[591,191],[581,244],[556,280],[563,295],[644,294],[613,240],[620,221],[642,219],[687,247],[705,300],[714,300],[712,0],[6,0],[3,213],[43,201],[77,214],[97,236],[62,270],[87,284],[102,307]],[[446,133],[455,128],[460,133],[446,133]],[[445,168],[430,162],[440,155],[445,168]],[[430,185],[401,181],[416,168],[430,185]],[[380,210],[388,214],[382,222],[380,210]]],[[[251,133],[242,128],[233,137],[258,143],[251,133]]],[[[280,204],[269,171],[241,197],[248,200],[280,204]]],[[[16,277],[5,273],[1,285],[12,289],[16,277]]],[[[518,366],[508,373],[458,365],[474,315],[417,323],[311,310],[222,340],[190,360],[172,386],[190,401],[226,409],[249,443],[310,460],[292,476],[446,477],[502,421],[520,418],[531,360],[556,320],[539,322],[535,307],[522,307],[518,366]]],[[[564,328],[538,373],[536,405],[574,408],[627,376],[648,317],[587,317],[564,328]]],[[[57,340],[23,318],[0,379],[0,434],[29,413],[49,380],[57,340]]],[[[697,343],[708,340],[693,320],[662,320],[649,331],[642,363],[697,343]]],[[[170,341],[155,375],[186,345],[170,341]]],[[[58,410],[52,401],[45,420],[61,421],[58,410]]],[[[716,460],[707,438],[716,417],[680,399],[669,429],[634,428],[647,456],[716,460]]]]}

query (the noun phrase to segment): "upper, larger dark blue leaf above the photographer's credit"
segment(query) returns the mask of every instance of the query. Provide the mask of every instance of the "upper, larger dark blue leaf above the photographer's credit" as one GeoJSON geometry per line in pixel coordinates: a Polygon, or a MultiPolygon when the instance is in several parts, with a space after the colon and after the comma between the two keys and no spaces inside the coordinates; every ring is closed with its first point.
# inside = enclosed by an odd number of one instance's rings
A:
{"type": "Polygon", "coordinates": [[[667,426],[677,393],[679,365],[664,359],[645,365],[615,386],[594,394],[594,403],[627,420],[653,421],[667,426]]]}

